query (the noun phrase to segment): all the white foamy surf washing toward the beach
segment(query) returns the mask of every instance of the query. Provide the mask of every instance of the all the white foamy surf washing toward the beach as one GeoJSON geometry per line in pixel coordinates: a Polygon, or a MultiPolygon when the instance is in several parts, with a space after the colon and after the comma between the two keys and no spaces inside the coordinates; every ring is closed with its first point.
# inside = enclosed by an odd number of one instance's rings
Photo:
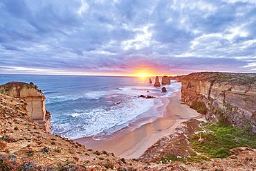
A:
{"type": "MultiPolygon", "coordinates": [[[[74,101],[75,104],[75,100],[78,99],[82,99],[81,102],[86,99],[100,102],[100,107],[73,109],[55,116],[60,119],[53,121],[52,133],[70,139],[88,136],[105,139],[113,132],[120,132],[123,128],[130,127],[131,123],[136,123],[141,118],[149,118],[147,122],[151,122],[152,118],[163,116],[163,111],[157,111],[157,107],[163,105],[161,98],[174,96],[173,92],[179,91],[181,84],[174,82],[164,87],[167,88],[167,92],[161,92],[161,87],[119,87],[109,91],[89,91],[72,96],[50,97],[46,101],[48,104],[55,102],[65,104],[68,100],[74,101]],[[156,98],[138,98],[140,94],[156,98]]],[[[141,124],[147,123],[143,122],[141,124]]]]}

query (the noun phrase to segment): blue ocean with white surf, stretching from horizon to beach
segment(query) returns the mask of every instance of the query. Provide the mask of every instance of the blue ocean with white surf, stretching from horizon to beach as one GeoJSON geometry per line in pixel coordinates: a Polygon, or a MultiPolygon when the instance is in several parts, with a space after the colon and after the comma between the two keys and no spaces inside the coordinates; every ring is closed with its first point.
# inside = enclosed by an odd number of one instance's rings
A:
{"type": "Polygon", "coordinates": [[[181,88],[180,82],[172,80],[165,85],[167,92],[162,92],[149,84],[149,78],[0,74],[0,84],[11,81],[37,85],[46,96],[52,134],[69,139],[108,140],[113,132],[136,129],[163,117],[161,107],[181,88]]]}

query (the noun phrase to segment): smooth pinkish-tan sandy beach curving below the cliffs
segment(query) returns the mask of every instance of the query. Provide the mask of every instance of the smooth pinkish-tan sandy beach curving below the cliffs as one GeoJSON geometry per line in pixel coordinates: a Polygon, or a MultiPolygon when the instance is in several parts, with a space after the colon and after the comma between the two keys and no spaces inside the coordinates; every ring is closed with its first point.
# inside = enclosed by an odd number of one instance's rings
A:
{"type": "Polygon", "coordinates": [[[165,116],[157,118],[152,123],[142,125],[109,141],[95,141],[91,137],[79,138],[75,141],[85,145],[87,149],[105,150],[125,159],[137,159],[159,138],[174,133],[174,129],[178,125],[190,118],[200,118],[200,114],[183,104],[181,92],[178,92],[176,96],[170,98],[165,116]]]}

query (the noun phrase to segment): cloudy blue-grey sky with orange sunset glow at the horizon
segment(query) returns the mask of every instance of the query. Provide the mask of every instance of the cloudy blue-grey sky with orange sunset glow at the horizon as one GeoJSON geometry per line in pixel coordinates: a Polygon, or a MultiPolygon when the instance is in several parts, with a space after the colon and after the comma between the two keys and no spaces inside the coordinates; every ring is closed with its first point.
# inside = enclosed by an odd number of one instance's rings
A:
{"type": "Polygon", "coordinates": [[[0,0],[0,73],[256,71],[255,0],[0,0]]]}

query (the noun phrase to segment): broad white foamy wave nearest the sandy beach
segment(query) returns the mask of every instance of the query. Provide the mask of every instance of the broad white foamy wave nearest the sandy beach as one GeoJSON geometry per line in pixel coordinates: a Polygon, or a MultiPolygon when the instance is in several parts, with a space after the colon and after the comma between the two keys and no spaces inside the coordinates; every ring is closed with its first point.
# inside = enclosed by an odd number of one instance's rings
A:
{"type": "Polygon", "coordinates": [[[127,127],[132,120],[153,106],[153,99],[136,98],[115,105],[111,109],[101,108],[84,113],[71,113],[69,115],[74,119],[64,124],[53,123],[52,132],[71,139],[106,136],[127,127]]]}

